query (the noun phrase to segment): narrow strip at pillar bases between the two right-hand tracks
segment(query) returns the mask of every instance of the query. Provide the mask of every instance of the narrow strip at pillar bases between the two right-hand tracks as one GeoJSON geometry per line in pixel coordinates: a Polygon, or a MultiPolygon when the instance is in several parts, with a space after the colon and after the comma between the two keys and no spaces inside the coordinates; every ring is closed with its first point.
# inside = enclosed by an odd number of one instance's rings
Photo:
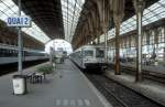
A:
{"type": "Polygon", "coordinates": [[[106,76],[165,106],[164,84],[148,79],[144,79],[141,83],[135,83],[135,77],[133,75],[125,73],[114,75],[113,69],[107,71],[106,76]]]}

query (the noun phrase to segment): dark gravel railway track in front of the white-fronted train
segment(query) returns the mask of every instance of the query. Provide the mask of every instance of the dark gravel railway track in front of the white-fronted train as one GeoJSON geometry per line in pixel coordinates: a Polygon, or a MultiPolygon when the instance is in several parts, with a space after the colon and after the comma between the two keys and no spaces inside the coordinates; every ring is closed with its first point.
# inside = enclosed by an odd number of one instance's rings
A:
{"type": "Polygon", "coordinates": [[[88,73],[85,75],[113,107],[164,107],[103,75],[88,73]]]}

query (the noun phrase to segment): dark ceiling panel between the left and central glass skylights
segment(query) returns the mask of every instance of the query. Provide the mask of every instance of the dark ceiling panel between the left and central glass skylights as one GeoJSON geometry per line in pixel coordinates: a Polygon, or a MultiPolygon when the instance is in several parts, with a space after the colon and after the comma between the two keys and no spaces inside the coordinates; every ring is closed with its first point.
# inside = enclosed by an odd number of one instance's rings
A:
{"type": "MultiPolygon", "coordinates": [[[[18,4],[18,0],[13,0],[18,4]]],[[[21,0],[22,10],[51,38],[64,39],[61,0],[21,0]],[[43,23],[44,21],[44,23],[43,23]],[[48,23],[48,25],[46,24],[48,23]]]]}

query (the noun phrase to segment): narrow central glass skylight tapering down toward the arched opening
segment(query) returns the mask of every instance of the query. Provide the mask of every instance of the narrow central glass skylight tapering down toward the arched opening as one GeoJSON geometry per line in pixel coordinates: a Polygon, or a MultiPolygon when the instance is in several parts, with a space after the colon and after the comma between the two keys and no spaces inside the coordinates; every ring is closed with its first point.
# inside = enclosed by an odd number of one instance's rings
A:
{"type": "Polygon", "coordinates": [[[61,0],[65,39],[72,42],[85,0],[61,0]]]}

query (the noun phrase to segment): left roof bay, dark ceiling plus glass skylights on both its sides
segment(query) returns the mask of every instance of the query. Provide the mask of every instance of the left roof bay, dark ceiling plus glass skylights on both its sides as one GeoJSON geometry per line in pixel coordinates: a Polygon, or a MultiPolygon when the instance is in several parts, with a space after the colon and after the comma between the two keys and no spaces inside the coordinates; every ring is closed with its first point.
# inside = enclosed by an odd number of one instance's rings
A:
{"type": "MultiPolygon", "coordinates": [[[[32,28],[22,31],[47,43],[53,39],[72,41],[85,0],[21,0],[21,15],[32,18],[32,28]]],[[[0,0],[0,20],[18,15],[18,0],[0,0]]]]}

